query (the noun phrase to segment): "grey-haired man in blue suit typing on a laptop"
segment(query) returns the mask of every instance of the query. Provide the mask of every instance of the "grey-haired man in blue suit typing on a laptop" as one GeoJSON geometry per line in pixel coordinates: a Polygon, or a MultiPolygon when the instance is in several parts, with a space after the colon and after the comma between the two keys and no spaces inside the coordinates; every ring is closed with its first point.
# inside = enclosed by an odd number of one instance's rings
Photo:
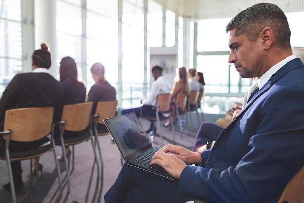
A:
{"type": "Polygon", "coordinates": [[[150,164],[178,180],[124,165],[106,203],[276,203],[304,165],[304,64],[292,55],[286,16],[276,5],[256,4],[237,14],[226,32],[229,63],[243,78],[258,77],[259,90],[212,151],[167,145],[152,157],[150,164]]]}

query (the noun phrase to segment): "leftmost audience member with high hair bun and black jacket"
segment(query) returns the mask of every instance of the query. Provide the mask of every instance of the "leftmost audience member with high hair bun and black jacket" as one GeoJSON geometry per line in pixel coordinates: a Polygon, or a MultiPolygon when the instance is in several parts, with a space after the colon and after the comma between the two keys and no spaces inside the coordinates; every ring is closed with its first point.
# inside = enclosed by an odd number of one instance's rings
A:
{"type": "MultiPolygon", "coordinates": [[[[5,111],[24,107],[58,107],[62,104],[63,87],[49,74],[51,67],[51,53],[47,44],[42,43],[41,49],[35,50],[32,55],[32,69],[30,73],[16,74],[5,88],[0,100],[1,130],[4,127],[5,111]]],[[[14,152],[39,147],[48,142],[46,138],[34,142],[10,141],[9,149],[14,152]]],[[[0,140],[0,150],[4,151],[5,140],[0,140]]],[[[21,161],[11,162],[15,190],[23,187],[21,161]]],[[[42,171],[39,163],[39,170],[42,171]]],[[[10,190],[10,184],[3,185],[5,190],[10,190]]]]}

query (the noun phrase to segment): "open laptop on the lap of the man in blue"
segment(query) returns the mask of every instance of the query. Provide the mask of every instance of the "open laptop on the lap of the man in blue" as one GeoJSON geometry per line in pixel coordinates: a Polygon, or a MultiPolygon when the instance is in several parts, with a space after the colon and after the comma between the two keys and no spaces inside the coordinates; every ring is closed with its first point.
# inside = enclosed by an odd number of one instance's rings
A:
{"type": "Polygon", "coordinates": [[[175,180],[161,166],[149,165],[151,157],[160,148],[152,145],[135,112],[103,121],[128,165],[175,180]]]}

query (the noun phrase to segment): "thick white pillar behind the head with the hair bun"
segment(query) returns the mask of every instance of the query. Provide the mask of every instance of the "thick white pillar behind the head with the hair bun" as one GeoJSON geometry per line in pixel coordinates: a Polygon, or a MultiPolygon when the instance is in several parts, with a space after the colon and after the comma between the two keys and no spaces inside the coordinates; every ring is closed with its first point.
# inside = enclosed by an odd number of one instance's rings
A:
{"type": "Polygon", "coordinates": [[[40,49],[42,42],[49,45],[52,57],[52,65],[49,71],[51,75],[58,79],[56,0],[35,0],[35,25],[35,49],[40,49]]]}

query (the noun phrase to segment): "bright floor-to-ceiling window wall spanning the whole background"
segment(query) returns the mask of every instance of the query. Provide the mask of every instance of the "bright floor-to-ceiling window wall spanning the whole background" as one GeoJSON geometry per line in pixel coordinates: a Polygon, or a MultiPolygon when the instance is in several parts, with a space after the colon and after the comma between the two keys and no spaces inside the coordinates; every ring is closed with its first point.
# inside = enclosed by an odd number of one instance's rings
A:
{"type": "MultiPolygon", "coordinates": [[[[38,45],[33,42],[34,32],[28,32],[34,30],[35,25],[30,23],[35,20],[29,20],[26,13],[34,15],[28,10],[34,9],[34,5],[29,5],[34,2],[0,0],[0,93],[15,74],[31,69],[30,55],[34,51],[31,46],[38,45]],[[22,16],[27,20],[22,20],[22,16]]],[[[304,12],[286,16],[292,32],[291,45],[304,47],[304,27],[298,23],[304,12]]],[[[177,46],[177,67],[185,63],[189,66],[186,68],[191,68],[196,64],[204,74],[205,113],[223,113],[242,100],[251,84],[250,79],[240,78],[233,64],[228,63],[225,27],[230,19],[198,21],[195,45],[194,22],[176,17],[154,0],[56,0],[57,63],[62,57],[73,57],[79,80],[84,81],[89,91],[94,83],[90,67],[101,62],[107,80],[117,89],[119,108],[130,108],[138,106],[139,100],[149,94],[153,79],[149,48],[177,46]],[[193,59],[196,46],[198,56],[193,59]]]]}

